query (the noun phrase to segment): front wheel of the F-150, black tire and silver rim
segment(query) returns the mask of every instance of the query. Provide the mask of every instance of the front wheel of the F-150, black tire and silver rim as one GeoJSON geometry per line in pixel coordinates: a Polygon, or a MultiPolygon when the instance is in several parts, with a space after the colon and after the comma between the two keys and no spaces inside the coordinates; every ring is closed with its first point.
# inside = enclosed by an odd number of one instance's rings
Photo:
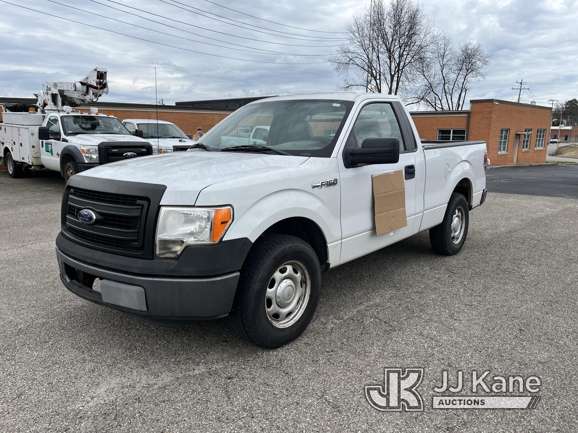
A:
{"type": "Polygon", "coordinates": [[[263,238],[241,271],[232,326],[262,348],[283,346],[309,325],[320,289],[319,261],[307,242],[285,234],[263,238]]]}

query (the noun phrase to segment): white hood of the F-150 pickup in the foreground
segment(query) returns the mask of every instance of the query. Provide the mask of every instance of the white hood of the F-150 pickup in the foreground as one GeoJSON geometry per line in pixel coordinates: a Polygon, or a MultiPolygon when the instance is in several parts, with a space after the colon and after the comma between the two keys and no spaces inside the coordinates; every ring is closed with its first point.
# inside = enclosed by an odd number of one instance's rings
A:
{"type": "MultiPolygon", "coordinates": [[[[307,159],[307,156],[241,152],[175,152],[113,162],[75,176],[165,185],[161,204],[186,206],[195,204],[199,192],[209,185],[296,167],[307,159]]],[[[98,189],[98,180],[94,183],[98,189]]]]}

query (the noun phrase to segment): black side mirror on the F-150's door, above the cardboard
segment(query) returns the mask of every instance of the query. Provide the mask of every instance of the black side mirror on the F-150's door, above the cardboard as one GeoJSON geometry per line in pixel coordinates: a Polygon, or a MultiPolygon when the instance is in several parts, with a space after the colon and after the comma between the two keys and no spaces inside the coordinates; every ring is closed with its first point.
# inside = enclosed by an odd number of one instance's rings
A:
{"type": "Polygon", "coordinates": [[[395,164],[399,161],[399,139],[365,139],[361,147],[347,147],[345,155],[343,162],[348,169],[358,164],[395,164]]]}

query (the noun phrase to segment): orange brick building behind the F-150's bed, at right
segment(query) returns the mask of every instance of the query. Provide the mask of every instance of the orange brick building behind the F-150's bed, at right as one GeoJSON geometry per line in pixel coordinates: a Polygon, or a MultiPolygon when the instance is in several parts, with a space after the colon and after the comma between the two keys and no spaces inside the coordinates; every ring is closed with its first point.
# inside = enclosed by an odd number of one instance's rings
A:
{"type": "Polygon", "coordinates": [[[473,99],[469,110],[411,114],[421,139],[486,141],[492,165],[546,162],[551,107],[473,99]]]}

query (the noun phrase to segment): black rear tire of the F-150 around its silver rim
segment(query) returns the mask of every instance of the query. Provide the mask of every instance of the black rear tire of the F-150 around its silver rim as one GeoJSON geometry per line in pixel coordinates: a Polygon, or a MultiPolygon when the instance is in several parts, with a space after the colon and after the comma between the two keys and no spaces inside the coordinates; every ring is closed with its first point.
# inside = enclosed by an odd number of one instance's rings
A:
{"type": "MultiPolygon", "coordinates": [[[[429,243],[433,251],[445,256],[453,256],[460,252],[464,246],[466,236],[468,236],[468,226],[468,200],[459,192],[454,192],[450,197],[449,203],[447,203],[446,214],[443,216],[442,223],[429,229],[429,243]],[[454,232],[452,231],[456,212],[461,212],[463,231],[460,236],[456,236],[455,230],[454,232]]],[[[460,230],[458,230],[458,234],[460,230]]]]}

